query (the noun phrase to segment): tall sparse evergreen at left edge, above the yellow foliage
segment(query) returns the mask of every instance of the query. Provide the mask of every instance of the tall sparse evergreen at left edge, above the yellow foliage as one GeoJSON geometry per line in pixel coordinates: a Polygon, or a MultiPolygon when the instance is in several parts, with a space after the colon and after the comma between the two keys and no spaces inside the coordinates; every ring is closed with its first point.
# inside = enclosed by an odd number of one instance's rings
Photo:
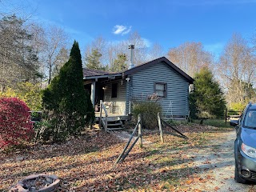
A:
{"type": "Polygon", "coordinates": [[[38,57],[33,35],[15,15],[0,19],[0,80],[16,88],[16,82],[38,81],[38,57]]]}

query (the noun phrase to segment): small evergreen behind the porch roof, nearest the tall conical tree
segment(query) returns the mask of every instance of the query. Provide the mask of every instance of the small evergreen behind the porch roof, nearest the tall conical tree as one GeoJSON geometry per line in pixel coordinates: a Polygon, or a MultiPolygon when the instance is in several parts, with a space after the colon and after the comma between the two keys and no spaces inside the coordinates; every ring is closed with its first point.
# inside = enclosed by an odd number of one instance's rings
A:
{"type": "Polygon", "coordinates": [[[98,49],[92,50],[92,53],[86,56],[86,68],[92,70],[106,70],[100,62],[101,57],[102,54],[98,49]]]}

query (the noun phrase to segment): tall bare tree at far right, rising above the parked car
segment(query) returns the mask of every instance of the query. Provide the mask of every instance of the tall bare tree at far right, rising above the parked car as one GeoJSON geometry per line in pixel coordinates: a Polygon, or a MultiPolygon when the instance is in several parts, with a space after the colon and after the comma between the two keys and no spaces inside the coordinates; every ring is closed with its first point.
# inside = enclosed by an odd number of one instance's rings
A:
{"type": "MultiPolygon", "coordinates": [[[[219,58],[218,73],[226,88],[226,100],[245,103],[255,85],[256,59],[253,50],[240,34],[234,34],[219,58]]],[[[250,98],[249,98],[250,99],[250,98]]]]}

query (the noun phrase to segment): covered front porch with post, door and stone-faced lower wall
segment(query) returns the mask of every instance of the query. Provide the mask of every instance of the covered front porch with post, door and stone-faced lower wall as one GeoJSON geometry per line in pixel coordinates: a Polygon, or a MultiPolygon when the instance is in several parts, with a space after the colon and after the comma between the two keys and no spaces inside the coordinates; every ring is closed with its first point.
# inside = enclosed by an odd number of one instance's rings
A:
{"type": "Polygon", "coordinates": [[[126,110],[126,79],[122,77],[122,73],[87,75],[84,77],[84,87],[90,94],[96,118],[99,117],[102,100],[109,117],[129,119],[126,110]]]}

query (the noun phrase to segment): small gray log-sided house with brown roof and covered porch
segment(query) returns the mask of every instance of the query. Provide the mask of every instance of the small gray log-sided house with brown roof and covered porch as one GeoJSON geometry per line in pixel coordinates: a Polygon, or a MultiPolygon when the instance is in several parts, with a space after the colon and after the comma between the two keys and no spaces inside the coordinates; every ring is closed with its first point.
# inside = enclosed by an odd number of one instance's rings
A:
{"type": "Polygon", "coordinates": [[[134,100],[152,94],[160,98],[163,117],[186,118],[189,114],[189,86],[194,79],[165,57],[116,74],[89,69],[83,73],[93,105],[102,100],[110,106],[110,114],[130,115],[134,100]]]}

